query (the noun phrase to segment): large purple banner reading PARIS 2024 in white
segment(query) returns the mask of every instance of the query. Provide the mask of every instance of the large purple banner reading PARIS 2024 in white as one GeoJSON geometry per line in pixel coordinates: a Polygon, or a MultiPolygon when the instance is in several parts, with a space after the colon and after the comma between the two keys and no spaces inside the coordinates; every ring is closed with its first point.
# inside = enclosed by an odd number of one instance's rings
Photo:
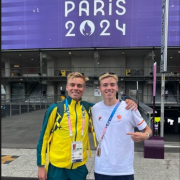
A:
{"type": "MultiPolygon", "coordinates": [[[[1,49],[161,46],[162,0],[2,0],[1,49]]],[[[168,46],[180,46],[169,0],[168,46]]]]}

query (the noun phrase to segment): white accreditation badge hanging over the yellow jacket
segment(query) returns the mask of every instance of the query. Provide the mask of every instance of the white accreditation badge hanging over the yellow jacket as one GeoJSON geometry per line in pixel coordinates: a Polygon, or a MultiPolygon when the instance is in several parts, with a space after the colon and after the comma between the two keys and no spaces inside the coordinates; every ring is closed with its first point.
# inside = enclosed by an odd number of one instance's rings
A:
{"type": "Polygon", "coordinates": [[[83,144],[81,141],[72,142],[71,157],[72,157],[72,163],[83,161],[83,144]]]}

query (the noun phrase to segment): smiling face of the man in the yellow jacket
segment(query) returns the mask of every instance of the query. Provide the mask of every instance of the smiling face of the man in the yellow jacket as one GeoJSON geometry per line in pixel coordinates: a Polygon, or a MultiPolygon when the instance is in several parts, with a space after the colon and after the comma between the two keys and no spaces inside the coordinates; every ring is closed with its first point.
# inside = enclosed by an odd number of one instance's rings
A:
{"type": "Polygon", "coordinates": [[[75,101],[79,101],[85,91],[84,79],[80,77],[69,78],[66,85],[66,91],[72,99],[74,99],[75,101]]]}

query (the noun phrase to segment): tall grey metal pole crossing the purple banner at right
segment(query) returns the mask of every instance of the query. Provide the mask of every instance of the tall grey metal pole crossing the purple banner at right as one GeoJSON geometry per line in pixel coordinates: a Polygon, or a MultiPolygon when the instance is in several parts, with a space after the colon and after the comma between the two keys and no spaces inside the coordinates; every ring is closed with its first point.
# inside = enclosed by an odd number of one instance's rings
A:
{"type": "Polygon", "coordinates": [[[167,71],[167,39],[168,39],[168,10],[169,0],[162,0],[162,31],[161,31],[161,133],[164,137],[164,90],[165,72],[167,71]]]}

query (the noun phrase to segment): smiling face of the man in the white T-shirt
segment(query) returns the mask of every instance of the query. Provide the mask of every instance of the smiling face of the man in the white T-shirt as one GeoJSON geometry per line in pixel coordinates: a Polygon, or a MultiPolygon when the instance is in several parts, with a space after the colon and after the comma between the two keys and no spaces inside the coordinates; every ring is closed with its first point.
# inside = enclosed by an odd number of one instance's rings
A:
{"type": "Polygon", "coordinates": [[[113,77],[107,77],[100,81],[99,87],[104,100],[115,100],[116,92],[118,91],[118,85],[116,79],[113,77]]]}

